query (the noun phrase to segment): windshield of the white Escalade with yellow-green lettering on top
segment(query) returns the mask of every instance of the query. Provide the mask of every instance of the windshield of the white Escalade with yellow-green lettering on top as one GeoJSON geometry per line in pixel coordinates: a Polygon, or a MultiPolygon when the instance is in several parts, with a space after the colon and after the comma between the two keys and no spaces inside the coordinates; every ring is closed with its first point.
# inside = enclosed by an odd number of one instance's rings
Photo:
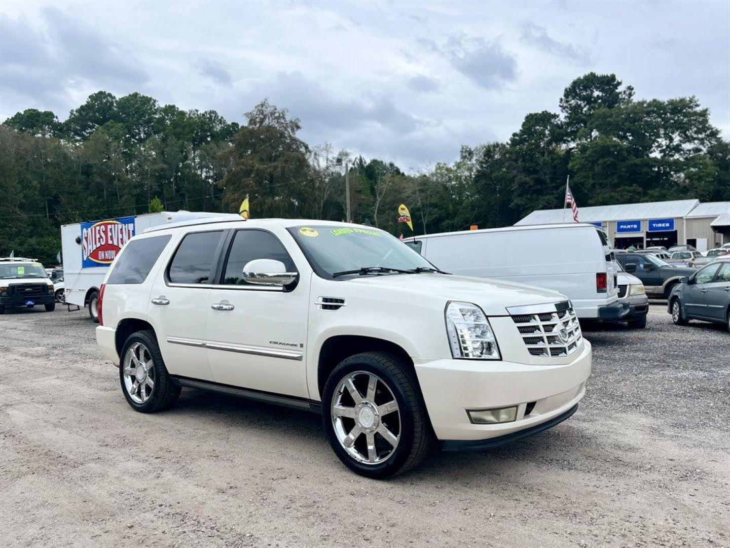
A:
{"type": "Polygon", "coordinates": [[[433,269],[433,265],[412,248],[380,229],[309,225],[288,230],[299,243],[312,268],[323,278],[331,278],[335,273],[366,267],[396,270],[433,269]]]}

